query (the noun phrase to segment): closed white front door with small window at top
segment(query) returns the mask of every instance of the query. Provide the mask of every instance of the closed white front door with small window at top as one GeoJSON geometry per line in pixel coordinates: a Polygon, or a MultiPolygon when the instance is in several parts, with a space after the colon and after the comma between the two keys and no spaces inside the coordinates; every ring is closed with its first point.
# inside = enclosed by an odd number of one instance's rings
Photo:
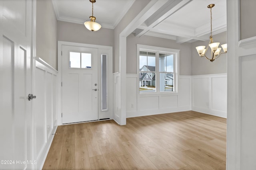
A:
{"type": "Polygon", "coordinates": [[[62,124],[98,120],[98,49],[62,45],[62,124]]]}

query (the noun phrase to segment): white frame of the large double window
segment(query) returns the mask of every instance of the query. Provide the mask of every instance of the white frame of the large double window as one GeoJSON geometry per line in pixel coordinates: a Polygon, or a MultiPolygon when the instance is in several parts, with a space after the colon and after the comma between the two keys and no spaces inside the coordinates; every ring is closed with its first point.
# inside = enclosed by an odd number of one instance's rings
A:
{"type": "MultiPolygon", "coordinates": [[[[178,76],[179,76],[179,57],[180,57],[180,50],[179,49],[169,49],[169,48],[163,48],[163,47],[156,47],[156,46],[150,46],[150,45],[140,45],[137,44],[137,93],[139,95],[154,95],[154,94],[177,94],[178,93],[178,76]],[[146,52],[152,52],[156,53],[156,91],[155,92],[140,92],[140,51],[146,51],[146,52]],[[173,66],[174,66],[174,84],[173,89],[174,91],[168,91],[168,92],[161,92],[160,91],[160,72],[159,71],[159,54],[168,54],[168,55],[174,55],[173,57],[173,66]]],[[[169,73],[169,72],[166,72],[169,73]]]]}

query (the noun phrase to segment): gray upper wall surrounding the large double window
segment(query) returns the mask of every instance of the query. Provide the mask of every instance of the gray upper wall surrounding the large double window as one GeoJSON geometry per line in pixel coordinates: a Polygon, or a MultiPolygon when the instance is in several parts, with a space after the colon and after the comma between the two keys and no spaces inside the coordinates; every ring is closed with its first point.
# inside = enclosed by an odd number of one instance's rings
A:
{"type": "Polygon", "coordinates": [[[126,73],[137,73],[137,44],[180,50],[180,75],[191,75],[191,43],[177,44],[176,41],[144,35],[135,37],[131,33],[126,39],[126,73]]]}

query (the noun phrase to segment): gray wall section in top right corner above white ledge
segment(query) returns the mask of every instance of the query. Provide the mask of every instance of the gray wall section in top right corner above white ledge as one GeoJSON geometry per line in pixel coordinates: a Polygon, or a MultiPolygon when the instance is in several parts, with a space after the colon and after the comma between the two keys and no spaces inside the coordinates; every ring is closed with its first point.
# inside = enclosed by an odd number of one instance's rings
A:
{"type": "Polygon", "coordinates": [[[256,0],[240,0],[240,39],[256,36],[256,0]]]}

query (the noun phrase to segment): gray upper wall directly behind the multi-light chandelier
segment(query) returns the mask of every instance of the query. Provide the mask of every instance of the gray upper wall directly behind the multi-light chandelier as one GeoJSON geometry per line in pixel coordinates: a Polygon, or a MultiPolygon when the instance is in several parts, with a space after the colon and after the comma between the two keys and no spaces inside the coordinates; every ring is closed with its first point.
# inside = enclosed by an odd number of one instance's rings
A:
{"type": "MultiPolygon", "coordinates": [[[[227,42],[227,32],[213,35],[214,42],[220,42],[220,45],[227,42]]],[[[207,41],[196,41],[191,44],[191,68],[192,75],[203,75],[203,74],[221,74],[227,73],[227,54],[222,54],[218,59],[210,62],[205,57],[199,57],[196,47],[205,45],[207,47],[210,39],[207,41]]],[[[219,46],[221,47],[221,46],[219,46]]],[[[222,50],[223,51],[223,50],[222,50]]],[[[210,57],[211,49],[208,48],[206,56],[210,57]]]]}

